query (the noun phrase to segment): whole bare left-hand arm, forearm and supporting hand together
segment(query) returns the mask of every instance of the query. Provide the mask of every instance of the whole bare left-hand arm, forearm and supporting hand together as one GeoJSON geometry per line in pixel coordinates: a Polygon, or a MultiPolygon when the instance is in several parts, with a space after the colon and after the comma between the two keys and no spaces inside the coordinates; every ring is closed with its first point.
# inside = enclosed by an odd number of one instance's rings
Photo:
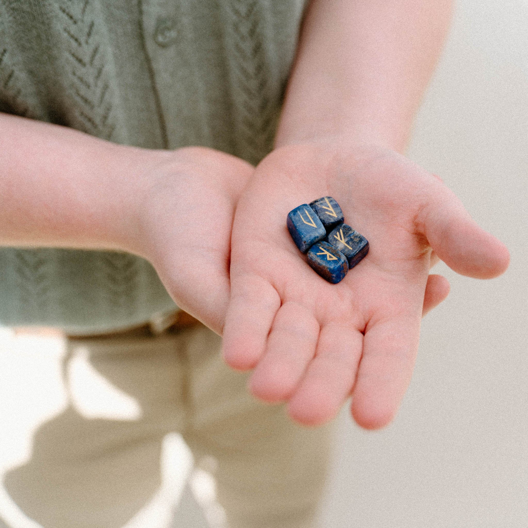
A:
{"type": "Polygon", "coordinates": [[[178,306],[219,332],[234,206],[252,172],[211,148],[120,146],[0,114],[0,246],[138,254],[178,306]]]}

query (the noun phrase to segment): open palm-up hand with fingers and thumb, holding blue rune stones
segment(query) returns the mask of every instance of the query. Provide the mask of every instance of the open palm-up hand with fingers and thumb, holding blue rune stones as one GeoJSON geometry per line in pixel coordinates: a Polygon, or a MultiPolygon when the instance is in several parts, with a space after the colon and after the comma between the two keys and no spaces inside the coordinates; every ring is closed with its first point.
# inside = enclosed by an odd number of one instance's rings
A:
{"type": "Polygon", "coordinates": [[[237,205],[224,358],[254,369],[250,390],[288,402],[297,422],[332,419],[352,395],[366,429],[387,425],[410,382],[421,316],[449,292],[439,258],[460,274],[500,275],[509,254],[441,182],[378,146],[284,146],[258,165],[237,205]],[[333,196],[370,242],[336,285],[309,268],[286,228],[297,205],[333,196]],[[434,250],[434,253],[433,253],[434,250]]]}

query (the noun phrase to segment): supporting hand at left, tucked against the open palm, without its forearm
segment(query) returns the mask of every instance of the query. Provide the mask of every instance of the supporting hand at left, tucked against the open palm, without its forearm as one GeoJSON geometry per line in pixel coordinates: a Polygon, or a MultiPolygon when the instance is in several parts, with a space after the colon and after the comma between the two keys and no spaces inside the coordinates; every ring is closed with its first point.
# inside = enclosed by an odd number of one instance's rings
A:
{"type": "Polygon", "coordinates": [[[235,204],[254,167],[208,147],[144,151],[130,250],[149,260],[175,303],[219,333],[229,299],[235,204]]]}

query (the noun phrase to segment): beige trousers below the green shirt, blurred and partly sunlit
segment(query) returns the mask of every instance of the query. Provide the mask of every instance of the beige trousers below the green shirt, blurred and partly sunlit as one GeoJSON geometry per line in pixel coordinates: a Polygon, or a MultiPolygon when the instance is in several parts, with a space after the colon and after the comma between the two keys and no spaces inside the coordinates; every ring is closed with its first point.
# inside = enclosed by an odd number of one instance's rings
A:
{"type": "Polygon", "coordinates": [[[249,374],[223,363],[213,332],[68,339],[65,362],[80,348],[142,413],[87,419],[69,406],[44,423],[31,459],[4,478],[25,515],[44,528],[126,526],[159,488],[164,437],[179,432],[195,460],[216,459],[230,528],[313,526],[334,426],[297,426],[283,406],[252,398],[249,374]]]}

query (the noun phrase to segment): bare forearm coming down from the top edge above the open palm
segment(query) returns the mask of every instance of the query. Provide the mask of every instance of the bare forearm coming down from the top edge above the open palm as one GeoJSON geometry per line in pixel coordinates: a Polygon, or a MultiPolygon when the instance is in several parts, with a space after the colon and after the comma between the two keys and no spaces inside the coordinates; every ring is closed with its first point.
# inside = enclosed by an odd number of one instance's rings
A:
{"type": "Polygon", "coordinates": [[[312,0],[275,146],[324,136],[402,152],[451,0],[312,0]]]}

